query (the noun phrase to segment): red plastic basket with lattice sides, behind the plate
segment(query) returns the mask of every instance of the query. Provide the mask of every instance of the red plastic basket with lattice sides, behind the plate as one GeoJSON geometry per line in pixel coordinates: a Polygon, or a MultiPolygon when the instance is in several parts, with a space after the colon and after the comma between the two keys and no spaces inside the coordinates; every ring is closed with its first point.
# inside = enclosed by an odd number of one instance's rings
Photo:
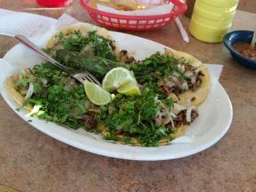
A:
{"type": "Polygon", "coordinates": [[[88,0],[80,0],[81,5],[89,13],[93,20],[105,28],[124,31],[146,31],[162,28],[170,24],[176,17],[187,9],[186,3],[182,0],[166,0],[166,3],[173,3],[172,12],[163,15],[152,16],[129,16],[118,15],[95,10],[88,5],[88,0]]]}

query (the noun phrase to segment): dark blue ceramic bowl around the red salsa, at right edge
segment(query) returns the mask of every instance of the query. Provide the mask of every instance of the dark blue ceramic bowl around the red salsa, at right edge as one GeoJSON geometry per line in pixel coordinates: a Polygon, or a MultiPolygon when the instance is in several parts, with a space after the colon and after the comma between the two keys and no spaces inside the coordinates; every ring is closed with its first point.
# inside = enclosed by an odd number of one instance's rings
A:
{"type": "Polygon", "coordinates": [[[256,69],[256,61],[250,58],[246,58],[239,52],[237,52],[233,46],[237,42],[252,42],[253,31],[232,31],[225,35],[223,43],[227,47],[230,54],[240,65],[246,68],[256,69]]]}

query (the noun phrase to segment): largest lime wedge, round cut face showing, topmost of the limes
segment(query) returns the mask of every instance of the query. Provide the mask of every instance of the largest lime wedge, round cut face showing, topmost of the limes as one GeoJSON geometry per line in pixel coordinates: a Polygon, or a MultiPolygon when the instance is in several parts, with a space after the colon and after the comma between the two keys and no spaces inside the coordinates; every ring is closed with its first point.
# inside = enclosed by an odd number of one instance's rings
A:
{"type": "Polygon", "coordinates": [[[135,80],[131,71],[124,67],[116,67],[106,74],[102,81],[102,88],[113,92],[125,84],[133,83],[135,80]]]}

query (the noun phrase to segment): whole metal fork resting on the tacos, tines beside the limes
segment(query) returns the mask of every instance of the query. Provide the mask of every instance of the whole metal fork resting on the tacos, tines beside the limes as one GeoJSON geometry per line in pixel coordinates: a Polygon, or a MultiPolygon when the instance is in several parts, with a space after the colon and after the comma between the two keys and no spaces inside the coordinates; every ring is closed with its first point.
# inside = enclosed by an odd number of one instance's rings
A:
{"type": "Polygon", "coordinates": [[[84,84],[84,81],[87,80],[101,86],[101,83],[98,81],[98,79],[96,79],[90,72],[79,72],[76,70],[72,71],[69,68],[65,67],[64,65],[61,65],[61,63],[54,60],[51,56],[49,56],[49,54],[46,54],[39,47],[33,44],[28,38],[26,38],[26,36],[15,35],[15,39],[17,39],[20,43],[26,45],[33,51],[37,52],[40,56],[42,56],[42,58],[51,62],[56,67],[61,68],[62,70],[65,70],[66,72],[68,72],[70,76],[74,77],[74,79],[76,79],[80,83],[84,84]]]}

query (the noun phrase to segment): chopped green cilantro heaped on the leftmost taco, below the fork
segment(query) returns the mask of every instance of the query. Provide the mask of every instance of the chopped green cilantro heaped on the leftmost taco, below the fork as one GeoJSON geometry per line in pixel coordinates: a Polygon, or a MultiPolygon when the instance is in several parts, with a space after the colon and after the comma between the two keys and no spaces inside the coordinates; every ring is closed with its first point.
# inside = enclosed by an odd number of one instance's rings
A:
{"type": "Polygon", "coordinates": [[[79,120],[79,116],[86,113],[84,104],[88,102],[83,85],[75,83],[66,72],[50,63],[35,65],[31,71],[37,79],[47,81],[38,83],[40,89],[26,102],[42,106],[36,116],[71,129],[84,127],[83,120],[79,120]]]}

